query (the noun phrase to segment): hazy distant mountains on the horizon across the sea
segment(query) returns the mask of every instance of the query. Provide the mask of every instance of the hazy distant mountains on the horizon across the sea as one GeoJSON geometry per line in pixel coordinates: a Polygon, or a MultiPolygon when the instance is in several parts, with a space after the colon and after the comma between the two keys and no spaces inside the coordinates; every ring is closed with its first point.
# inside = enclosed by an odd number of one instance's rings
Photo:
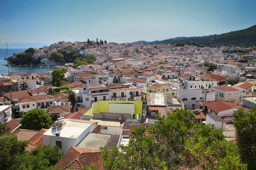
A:
{"type": "MultiPolygon", "coordinates": [[[[10,42],[8,43],[8,48],[40,48],[43,46],[49,46],[51,44],[44,43],[23,43],[23,42],[10,42]]],[[[0,48],[6,48],[6,43],[0,43],[0,48]]]]}

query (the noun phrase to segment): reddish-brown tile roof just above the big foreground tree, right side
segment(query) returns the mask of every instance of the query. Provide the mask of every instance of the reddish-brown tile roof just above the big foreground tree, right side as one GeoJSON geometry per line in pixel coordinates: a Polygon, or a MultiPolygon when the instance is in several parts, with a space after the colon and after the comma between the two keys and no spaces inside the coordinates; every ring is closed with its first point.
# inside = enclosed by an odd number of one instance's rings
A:
{"type": "Polygon", "coordinates": [[[233,107],[221,102],[221,100],[215,100],[215,101],[210,101],[210,102],[204,102],[202,103],[204,106],[207,108],[211,109],[215,113],[219,113],[221,111],[227,111],[230,109],[233,109],[233,107]]]}

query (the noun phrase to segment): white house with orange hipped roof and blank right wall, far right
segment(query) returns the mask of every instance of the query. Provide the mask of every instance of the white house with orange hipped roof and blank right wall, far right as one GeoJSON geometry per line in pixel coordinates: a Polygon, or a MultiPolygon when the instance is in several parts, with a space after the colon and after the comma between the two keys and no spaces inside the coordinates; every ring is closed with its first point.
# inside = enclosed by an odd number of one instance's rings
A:
{"type": "Polygon", "coordinates": [[[239,101],[240,91],[236,88],[223,85],[212,87],[211,90],[215,92],[216,100],[227,100],[229,102],[239,101]]]}

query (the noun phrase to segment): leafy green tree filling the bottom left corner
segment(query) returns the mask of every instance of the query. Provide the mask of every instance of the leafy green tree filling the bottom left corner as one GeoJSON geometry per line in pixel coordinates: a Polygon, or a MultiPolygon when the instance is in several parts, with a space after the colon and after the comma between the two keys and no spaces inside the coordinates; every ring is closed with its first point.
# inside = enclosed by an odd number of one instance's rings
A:
{"type": "Polygon", "coordinates": [[[17,136],[11,133],[0,136],[0,169],[14,170],[28,143],[19,141],[17,136]]]}

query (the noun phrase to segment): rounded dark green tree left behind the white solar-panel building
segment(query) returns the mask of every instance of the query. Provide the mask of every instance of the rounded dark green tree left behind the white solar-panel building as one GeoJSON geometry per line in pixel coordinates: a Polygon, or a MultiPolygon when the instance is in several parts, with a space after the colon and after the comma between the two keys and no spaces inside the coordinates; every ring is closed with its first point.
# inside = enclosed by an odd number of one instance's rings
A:
{"type": "Polygon", "coordinates": [[[32,109],[20,119],[21,128],[29,130],[48,129],[52,126],[51,117],[41,109],[32,109]]]}

